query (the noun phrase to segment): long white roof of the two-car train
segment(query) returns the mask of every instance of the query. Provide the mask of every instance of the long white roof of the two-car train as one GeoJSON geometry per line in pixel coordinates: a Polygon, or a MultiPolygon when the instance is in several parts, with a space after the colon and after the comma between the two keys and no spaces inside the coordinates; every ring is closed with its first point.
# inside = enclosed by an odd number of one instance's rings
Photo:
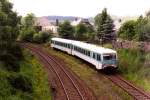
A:
{"type": "Polygon", "coordinates": [[[60,41],[60,42],[64,42],[64,43],[71,43],[75,46],[78,46],[80,48],[84,48],[86,50],[93,51],[95,53],[100,53],[100,54],[103,54],[103,53],[116,53],[115,50],[100,47],[100,46],[96,46],[96,45],[89,44],[89,43],[80,42],[80,41],[74,41],[74,40],[68,40],[68,39],[62,39],[62,38],[52,38],[52,40],[56,40],[56,41],[60,41]]]}

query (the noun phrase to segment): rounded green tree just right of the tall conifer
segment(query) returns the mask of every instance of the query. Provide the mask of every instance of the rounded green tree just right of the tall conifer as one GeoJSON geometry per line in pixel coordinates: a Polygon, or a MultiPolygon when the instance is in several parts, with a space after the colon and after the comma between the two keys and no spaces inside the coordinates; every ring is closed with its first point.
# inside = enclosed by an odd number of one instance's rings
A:
{"type": "Polygon", "coordinates": [[[126,40],[133,40],[136,36],[136,25],[137,22],[129,20],[125,22],[119,29],[118,36],[126,40]]]}

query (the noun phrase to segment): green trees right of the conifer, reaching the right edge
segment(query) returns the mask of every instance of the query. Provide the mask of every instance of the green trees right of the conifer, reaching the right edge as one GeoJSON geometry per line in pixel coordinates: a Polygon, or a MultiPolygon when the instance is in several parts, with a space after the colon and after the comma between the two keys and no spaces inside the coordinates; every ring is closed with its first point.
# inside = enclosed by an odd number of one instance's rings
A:
{"type": "Polygon", "coordinates": [[[150,16],[140,16],[136,21],[129,20],[119,29],[118,36],[127,40],[150,42],[150,16]]]}

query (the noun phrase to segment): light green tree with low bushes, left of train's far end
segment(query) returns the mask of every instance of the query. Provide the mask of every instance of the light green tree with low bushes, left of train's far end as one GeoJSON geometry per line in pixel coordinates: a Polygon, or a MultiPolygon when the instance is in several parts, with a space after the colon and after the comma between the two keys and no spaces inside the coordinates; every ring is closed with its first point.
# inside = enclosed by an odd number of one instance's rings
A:
{"type": "Polygon", "coordinates": [[[26,42],[45,43],[51,37],[51,31],[39,32],[35,28],[36,17],[34,14],[28,14],[22,19],[22,28],[19,39],[26,42]]]}

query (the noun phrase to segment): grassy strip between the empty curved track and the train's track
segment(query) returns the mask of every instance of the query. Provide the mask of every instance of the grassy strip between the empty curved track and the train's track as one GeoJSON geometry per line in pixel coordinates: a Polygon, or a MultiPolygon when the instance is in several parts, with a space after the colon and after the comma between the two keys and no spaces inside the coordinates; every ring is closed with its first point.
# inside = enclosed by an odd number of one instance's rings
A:
{"type": "Polygon", "coordinates": [[[93,90],[98,100],[132,100],[132,97],[126,92],[111,83],[100,72],[93,69],[92,67],[94,66],[66,53],[50,48],[46,48],[46,50],[50,54],[62,58],[68,64],[68,67],[93,90]]]}

